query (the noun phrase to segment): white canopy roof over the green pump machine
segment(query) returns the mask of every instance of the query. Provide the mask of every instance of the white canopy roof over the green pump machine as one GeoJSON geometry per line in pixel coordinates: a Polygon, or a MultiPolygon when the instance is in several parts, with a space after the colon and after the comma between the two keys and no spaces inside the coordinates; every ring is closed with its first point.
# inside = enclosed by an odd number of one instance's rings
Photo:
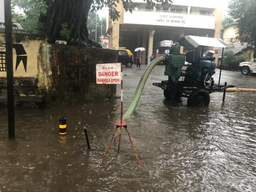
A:
{"type": "Polygon", "coordinates": [[[230,44],[216,38],[211,37],[199,37],[199,36],[192,36],[187,35],[184,37],[181,37],[178,41],[181,46],[193,46],[195,48],[199,46],[208,46],[208,47],[229,47],[230,44]]]}

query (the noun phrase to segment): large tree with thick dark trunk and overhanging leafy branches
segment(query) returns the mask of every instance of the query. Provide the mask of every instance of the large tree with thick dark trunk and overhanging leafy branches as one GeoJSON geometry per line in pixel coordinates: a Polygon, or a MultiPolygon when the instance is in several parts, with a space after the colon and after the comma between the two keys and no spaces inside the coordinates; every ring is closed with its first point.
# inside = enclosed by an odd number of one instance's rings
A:
{"type": "MultiPolygon", "coordinates": [[[[47,15],[42,21],[45,21],[48,42],[52,43],[59,38],[61,25],[67,24],[70,36],[68,41],[78,40],[80,45],[94,44],[88,39],[87,20],[90,9],[93,11],[107,6],[109,16],[115,20],[120,17],[116,10],[117,4],[122,2],[126,11],[132,12],[131,0],[45,0],[48,6],[47,15]]],[[[146,0],[144,0],[146,1],[146,0]]],[[[163,5],[171,3],[172,0],[156,0],[163,5]]],[[[147,0],[148,5],[155,6],[153,0],[147,0]]]]}

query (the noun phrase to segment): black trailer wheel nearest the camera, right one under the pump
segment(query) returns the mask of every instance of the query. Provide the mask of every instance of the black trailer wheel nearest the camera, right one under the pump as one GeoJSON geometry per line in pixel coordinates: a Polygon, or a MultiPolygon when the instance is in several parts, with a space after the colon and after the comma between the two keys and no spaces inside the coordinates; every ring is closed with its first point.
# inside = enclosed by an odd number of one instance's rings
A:
{"type": "Polygon", "coordinates": [[[187,106],[188,107],[203,107],[208,106],[210,103],[210,94],[207,90],[198,89],[191,94],[187,99],[187,106]]]}

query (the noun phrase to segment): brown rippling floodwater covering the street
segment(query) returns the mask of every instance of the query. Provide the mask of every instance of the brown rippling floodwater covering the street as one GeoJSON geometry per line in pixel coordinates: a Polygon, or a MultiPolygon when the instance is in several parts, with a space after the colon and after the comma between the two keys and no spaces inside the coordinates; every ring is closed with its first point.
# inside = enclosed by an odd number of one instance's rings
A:
{"type": "MultiPolygon", "coordinates": [[[[124,67],[124,110],[145,70],[124,67]]],[[[256,191],[256,93],[214,92],[208,108],[172,105],[153,82],[167,79],[156,66],[135,113],[126,122],[141,163],[125,131],[120,153],[115,137],[120,99],[16,109],[16,138],[8,139],[7,109],[0,109],[0,192],[187,192],[256,191]],[[59,136],[59,117],[67,135],[59,136]],[[87,150],[83,126],[88,129],[87,150]]],[[[216,70],[215,83],[219,70],[216,70]]],[[[256,76],[222,72],[221,83],[256,89],[256,76]]],[[[117,86],[117,96],[120,85],[117,86]]]]}

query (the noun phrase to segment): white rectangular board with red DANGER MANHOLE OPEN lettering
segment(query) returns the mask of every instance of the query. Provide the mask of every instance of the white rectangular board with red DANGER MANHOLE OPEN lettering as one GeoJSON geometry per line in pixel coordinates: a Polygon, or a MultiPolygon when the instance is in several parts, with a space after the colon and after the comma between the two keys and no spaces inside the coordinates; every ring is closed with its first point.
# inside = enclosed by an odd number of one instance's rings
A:
{"type": "Polygon", "coordinates": [[[120,84],[121,63],[106,63],[96,65],[97,84],[120,84]]]}

